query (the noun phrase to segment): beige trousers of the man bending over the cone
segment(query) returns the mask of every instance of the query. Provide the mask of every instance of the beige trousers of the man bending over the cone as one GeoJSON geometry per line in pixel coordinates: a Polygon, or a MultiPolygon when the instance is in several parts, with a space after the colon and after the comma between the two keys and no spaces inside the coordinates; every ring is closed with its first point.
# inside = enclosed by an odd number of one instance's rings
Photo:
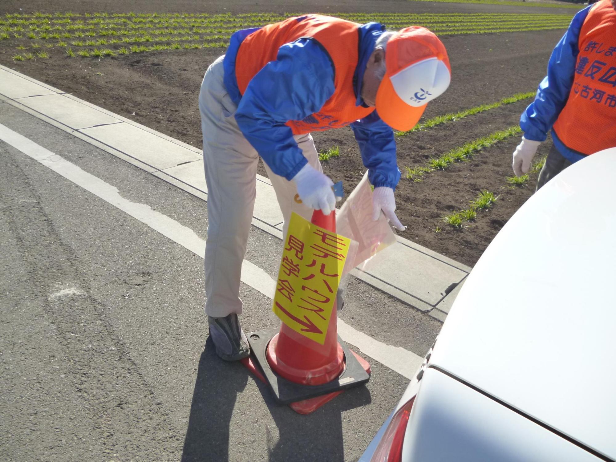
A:
{"type": "MultiPolygon", "coordinates": [[[[205,312],[213,317],[241,313],[241,262],[256,197],[259,155],[241,134],[235,121],[237,107],[227,94],[221,56],[208,68],[201,83],[199,110],[203,131],[203,164],[208,184],[208,237],[205,249],[205,312]]],[[[323,171],[312,136],[294,136],[309,163],[323,171]]],[[[312,209],[293,198],[295,184],[265,166],[285,219],[286,235],[291,211],[310,219],[312,209]]]]}

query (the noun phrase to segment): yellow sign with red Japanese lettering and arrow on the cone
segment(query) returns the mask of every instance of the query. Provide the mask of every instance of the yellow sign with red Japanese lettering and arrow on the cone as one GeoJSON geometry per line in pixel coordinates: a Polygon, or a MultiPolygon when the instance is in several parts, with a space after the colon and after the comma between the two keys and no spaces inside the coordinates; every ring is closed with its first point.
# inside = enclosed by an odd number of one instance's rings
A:
{"type": "Polygon", "coordinates": [[[325,342],[350,243],[291,214],[272,310],[291,329],[320,344],[325,342]]]}

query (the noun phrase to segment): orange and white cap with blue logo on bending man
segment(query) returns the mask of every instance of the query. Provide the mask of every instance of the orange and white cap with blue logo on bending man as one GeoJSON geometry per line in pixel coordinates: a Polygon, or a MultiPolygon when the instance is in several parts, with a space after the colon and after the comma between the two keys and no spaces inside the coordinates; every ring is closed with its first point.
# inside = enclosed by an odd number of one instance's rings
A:
{"type": "Polygon", "coordinates": [[[391,128],[410,130],[428,102],[449,86],[452,70],[447,50],[434,33],[411,26],[389,39],[385,65],[386,73],[376,92],[376,111],[391,128]]]}

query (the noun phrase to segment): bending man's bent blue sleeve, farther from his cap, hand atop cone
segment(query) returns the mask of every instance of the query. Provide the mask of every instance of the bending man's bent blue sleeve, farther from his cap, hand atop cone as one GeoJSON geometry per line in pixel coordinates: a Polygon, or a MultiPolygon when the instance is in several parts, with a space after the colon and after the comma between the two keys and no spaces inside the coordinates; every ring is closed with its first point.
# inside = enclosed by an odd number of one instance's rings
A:
{"type": "Polygon", "coordinates": [[[235,112],[241,132],[272,171],[291,180],[307,163],[285,125],[318,112],[334,92],[330,55],[310,38],[280,47],[250,81],[235,112]]]}

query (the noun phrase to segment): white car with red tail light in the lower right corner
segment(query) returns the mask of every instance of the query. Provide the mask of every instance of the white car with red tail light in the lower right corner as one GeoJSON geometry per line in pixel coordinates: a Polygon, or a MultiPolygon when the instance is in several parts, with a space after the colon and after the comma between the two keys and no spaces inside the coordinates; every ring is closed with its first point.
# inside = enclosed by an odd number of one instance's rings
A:
{"type": "Polygon", "coordinates": [[[498,233],[360,462],[616,461],[615,288],[611,148],[498,233]]]}

